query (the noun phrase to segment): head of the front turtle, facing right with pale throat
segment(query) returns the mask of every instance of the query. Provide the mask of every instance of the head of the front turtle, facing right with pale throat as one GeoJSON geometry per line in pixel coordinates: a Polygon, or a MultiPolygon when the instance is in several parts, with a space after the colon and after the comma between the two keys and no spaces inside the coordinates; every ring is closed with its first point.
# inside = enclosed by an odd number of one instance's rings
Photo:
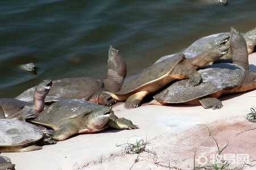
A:
{"type": "Polygon", "coordinates": [[[111,107],[102,107],[94,110],[87,117],[87,124],[93,130],[102,129],[109,121],[110,114],[112,113],[111,107]]]}

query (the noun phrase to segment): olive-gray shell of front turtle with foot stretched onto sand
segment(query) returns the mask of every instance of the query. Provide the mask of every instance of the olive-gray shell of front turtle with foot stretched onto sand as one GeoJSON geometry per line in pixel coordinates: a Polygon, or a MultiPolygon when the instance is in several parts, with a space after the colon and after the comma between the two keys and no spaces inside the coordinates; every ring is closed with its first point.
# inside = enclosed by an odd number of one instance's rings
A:
{"type": "MultiPolygon", "coordinates": [[[[92,109],[92,111],[99,109],[100,111],[101,108],[108,108],[108,111],[110,110],[110,107],[103,107],[102,105],[90,103],[85,100],[59,100],[51,104],[49,108],[44,109],[39,117],[31,120],[31,122],[56,130],[62,124],[61,121],[72,119],[73,117],[79,116],[79,114],[81,116],[85,114],[81,111],[85,111],[86,109],[92,109]]],[[[88,114],[92,111],[89,111],[88,114]]]]}

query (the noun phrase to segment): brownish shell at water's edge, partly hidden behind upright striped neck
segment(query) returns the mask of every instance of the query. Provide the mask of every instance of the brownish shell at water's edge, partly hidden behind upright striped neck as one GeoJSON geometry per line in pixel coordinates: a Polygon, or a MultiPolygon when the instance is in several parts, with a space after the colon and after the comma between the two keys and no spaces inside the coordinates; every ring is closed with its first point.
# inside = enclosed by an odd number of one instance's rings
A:
{"type": "MultiPolygon", "coordinates": [[[[82,99],[88,100],[94,92],[100,90],[104,84],[100,79],[92,77],[64,78],[54,80],[52,88],[46,96],[46,101],[60,99],[82,99]]],[[[24,91],[15,99],[22,101],[33,101],[35,87],[24,91]]]]}

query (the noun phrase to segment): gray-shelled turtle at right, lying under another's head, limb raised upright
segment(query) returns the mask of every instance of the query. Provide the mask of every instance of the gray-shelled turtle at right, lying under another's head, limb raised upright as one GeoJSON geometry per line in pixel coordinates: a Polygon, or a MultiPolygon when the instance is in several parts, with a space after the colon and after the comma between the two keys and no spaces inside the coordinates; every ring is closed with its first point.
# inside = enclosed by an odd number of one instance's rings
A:
{"type": "MultiPolygon", "coordinates": [[[[233,27],[230,31],[230,48],[233,63],[219,63],[199,70],[203,82],[192,86],[180,80],[154,95],[158,104],[184,103],[220,109],[221,95],[244,92],[256,88],[256,73],[249,70],[246,41],[233,27]]],[[[151,104],[157,104],[152,101],[151,104]]]]}

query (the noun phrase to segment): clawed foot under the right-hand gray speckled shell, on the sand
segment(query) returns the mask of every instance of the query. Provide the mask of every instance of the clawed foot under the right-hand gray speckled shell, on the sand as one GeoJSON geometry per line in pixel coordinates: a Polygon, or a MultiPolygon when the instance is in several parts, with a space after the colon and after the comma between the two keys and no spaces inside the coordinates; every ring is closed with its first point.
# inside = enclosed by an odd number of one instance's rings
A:
{"type": "Polygon", "coordinates": [[[205,109],[221,109],[223,107],[221,101],[215,97],[202,97],[199,101],[205,109]]]}

